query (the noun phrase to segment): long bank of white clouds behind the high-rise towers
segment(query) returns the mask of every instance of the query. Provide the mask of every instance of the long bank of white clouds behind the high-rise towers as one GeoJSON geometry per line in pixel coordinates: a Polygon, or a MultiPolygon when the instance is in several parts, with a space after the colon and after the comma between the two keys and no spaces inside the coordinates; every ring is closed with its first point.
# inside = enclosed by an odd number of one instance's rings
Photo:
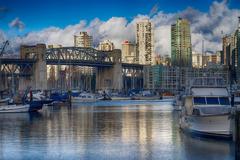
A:
{"type": "MultiPolygon", "coordinates": [[[[177,17],[187,18],[191,23],[193,50],[202,51],[202,40],[205,42],[205,50],[221,50],[221,37],[232,33],[238,23],[237,17],[240,10],[230,9],[226,1],[213,2],[208,12],[200,12],[191,7],[178,13],[164,13],[159,11],[151,21],[155,26],[155,50],[159,54],[170,55],[170,26],[177,17]]],[[[11,40],[15,47],[20,44],[62,44],[73,46],[73,35],[80,31],[87,31],[93,36],[94,46],[102,40],[109,39],[117,48],[121,48],[123,40],[135,41],[135,23],[147,15],[137,15],[131,21],[124,17],[112,17],[107,21],[96,18],[90,23],[80,21],[78,24],[69,25],[63,29],[49,27],[38,32],[30,32],[25,36],[15,37],[11,40]]],[[[14,26],[14,25],[12,25],[14,26]]]]}

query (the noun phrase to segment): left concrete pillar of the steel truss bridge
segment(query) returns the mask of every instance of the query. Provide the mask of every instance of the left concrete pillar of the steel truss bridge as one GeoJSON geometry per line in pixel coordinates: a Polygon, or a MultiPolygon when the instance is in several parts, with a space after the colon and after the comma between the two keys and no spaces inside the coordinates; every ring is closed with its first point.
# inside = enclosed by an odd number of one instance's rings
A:
{"type": "Polygon", "coordinates": [[[31,86],[32,89],[47,89],[47,65],[45,60],[45,53],[45,44],[37,44],[35,46],[21,46],[21,59],[35,58],[37,61],[33,66],[33,75],[30,78],[20,78],[19,90],[25,90],[27,86],[31,86]]]}

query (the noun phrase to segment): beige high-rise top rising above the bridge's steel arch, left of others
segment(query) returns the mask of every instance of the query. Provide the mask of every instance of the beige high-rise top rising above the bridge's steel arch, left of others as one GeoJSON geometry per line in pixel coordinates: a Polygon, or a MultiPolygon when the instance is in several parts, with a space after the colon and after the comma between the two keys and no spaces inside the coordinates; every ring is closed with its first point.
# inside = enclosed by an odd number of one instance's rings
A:
{"type": "Polygon", "coordinates": [[[80,32],[74,35],[74,47],[92,47],[93,38],[87,32],[80,32]]]}

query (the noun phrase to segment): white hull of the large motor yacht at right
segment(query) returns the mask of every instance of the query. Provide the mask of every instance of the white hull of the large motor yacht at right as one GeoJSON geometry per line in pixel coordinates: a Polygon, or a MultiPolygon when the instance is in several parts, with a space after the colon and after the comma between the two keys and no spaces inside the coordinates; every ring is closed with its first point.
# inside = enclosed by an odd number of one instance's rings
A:
{"type": "Polygon", "coordinates": [[[231,137],[231,119],[229,114],[213,116],[185,116],[180,127],[184,130],[209,136],[231,137]]]}

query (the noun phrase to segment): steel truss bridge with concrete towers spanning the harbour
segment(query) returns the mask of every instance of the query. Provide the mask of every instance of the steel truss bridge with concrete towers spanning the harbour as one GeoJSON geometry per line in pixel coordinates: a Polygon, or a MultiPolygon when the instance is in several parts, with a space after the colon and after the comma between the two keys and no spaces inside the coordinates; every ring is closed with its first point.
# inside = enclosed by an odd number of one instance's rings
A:
{"type": "Polygon", "coordinates": [[[61,47],[47,49],[45,44],[21,46],[19,59],[0,59],[0,71],[8,76],[18,76],[19,87],[31,85],[47,89],[47,66],[87,66],[96,70],[96,89],[121,90],[126,78],[133,79],[131,88],[141,88],[143,65],[121,62],[121,50],[99,51],[93,48],[61,47]],[[134,83],[135,86],[134,86],[134,83]]]}

